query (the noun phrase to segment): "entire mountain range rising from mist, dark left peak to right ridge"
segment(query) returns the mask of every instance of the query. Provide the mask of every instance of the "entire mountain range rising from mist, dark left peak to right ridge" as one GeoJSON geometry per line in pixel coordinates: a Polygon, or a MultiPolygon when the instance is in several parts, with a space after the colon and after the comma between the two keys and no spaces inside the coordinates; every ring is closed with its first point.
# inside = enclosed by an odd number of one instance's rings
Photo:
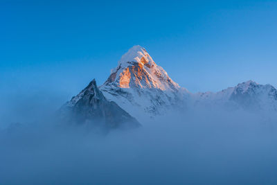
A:
{"type": "Polygon", "coordinates": [[[137,127],[136,119],[143,121],[189,107],[277,112],[277,90],[249,80],[219,92],[193,94],[174,82],[143,47],[133,46],[103,85],[97,87],[93,80],[62,109],[71,118],[78,117],[78,123],[102,120],[112,128],[122,124],[137,127]]]}

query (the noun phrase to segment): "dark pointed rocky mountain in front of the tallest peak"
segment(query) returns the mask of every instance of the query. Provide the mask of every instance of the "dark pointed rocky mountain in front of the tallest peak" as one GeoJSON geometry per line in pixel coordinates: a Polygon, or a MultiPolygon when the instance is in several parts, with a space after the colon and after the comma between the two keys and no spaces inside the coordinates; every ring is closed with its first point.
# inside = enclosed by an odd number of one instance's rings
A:
{"type": "Polygon", "coordinates": [[[130,116],[113,101],[105,98],[94,79],[61,110],[64,121],[69,123],[105,129],[140,126],[136,118],[130,116]]]}

